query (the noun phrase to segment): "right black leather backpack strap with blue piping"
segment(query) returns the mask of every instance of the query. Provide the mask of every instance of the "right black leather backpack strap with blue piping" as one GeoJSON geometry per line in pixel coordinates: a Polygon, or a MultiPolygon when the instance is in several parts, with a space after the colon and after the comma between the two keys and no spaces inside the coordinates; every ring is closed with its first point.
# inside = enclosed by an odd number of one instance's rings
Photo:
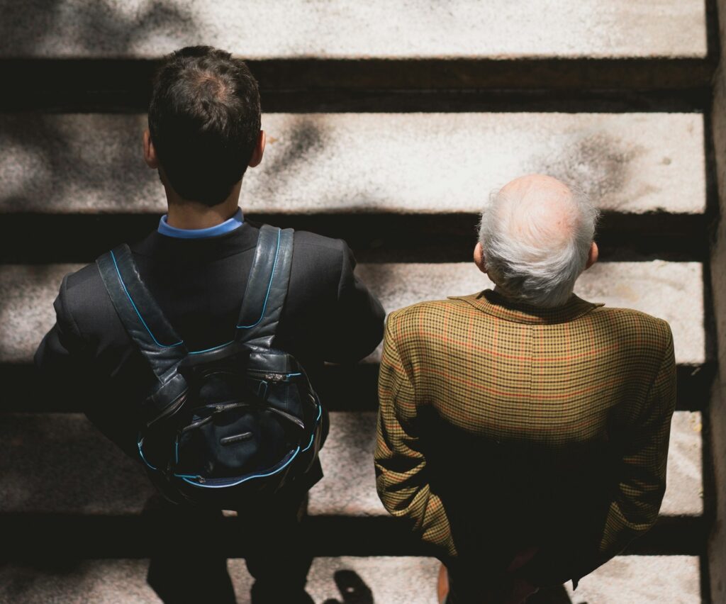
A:
{"type": "Polygon", "coordinates": [[[290,282],[293,233],[293,229],[278,229],[269,224],[260,229],[235,340],[272,346],[290,282]]]}

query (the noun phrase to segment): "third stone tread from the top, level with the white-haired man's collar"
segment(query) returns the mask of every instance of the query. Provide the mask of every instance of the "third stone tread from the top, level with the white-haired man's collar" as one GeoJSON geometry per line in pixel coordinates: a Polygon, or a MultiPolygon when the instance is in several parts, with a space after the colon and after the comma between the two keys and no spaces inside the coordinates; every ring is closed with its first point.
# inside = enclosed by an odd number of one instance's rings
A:
{"type": "MultiPolygon", "coordinates": [[[[0,362],[29,362],[52,327],[52,301],[62,276],[78,265],[0,266],[0,362]]],[[[356,269],[386,311],[447,295],[491,287],[473,263],[362,264],[356,269]]],[[[676,360],[701,364],[707,358],[703,327],[703,267],[697,262],[595,264],[580,277],[576,293],[608,306],[634,308],[666,319],[672,327],[676,360]]],[[[378,359],[378,353],[369,357],[378,359]]]]}

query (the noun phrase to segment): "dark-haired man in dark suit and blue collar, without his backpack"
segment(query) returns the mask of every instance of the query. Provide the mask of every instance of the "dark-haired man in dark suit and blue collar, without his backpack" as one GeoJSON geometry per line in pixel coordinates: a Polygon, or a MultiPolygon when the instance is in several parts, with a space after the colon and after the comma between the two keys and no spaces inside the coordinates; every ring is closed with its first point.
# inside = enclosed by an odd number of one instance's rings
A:
{"type": "MultiPolygon", "coordinates": [[[[167,57],[155,78],[143,150],[166,191],[168,213],[131,251],[190,351],[229,341],[237,325],[259,233],[238,201],[242,176],[261,162],[264,147],[258,87],[244,62],[208,46],[167,57]]],[[[354,362],[382,338],[383,309],[356,279],[354,266],[345,242],[295,232],[274,345],[301,362],[313,385],[323,362],[354,362]]],[[[65,277],[54,306],[57,322],[36,364],[53,388],[83,401],[90,420],[138,459],[139,403],[155,376],[124,330],[97,266],[65,277]]],[[[304,586],[311,555],[299,519],[307,491],[320,478],[316,461],[272,499],[240,502],[235,539],[245,545],[256,578],[253,602],[309,601],[304,586]]],[[[184,505],[163,508],[166,521],[176,518],[179,527],[179,542],[161,547],[150,566],[150,584],[165,602],[235,601],[214,539],[203,551],[184,546],[184,534],[202,516],[184,505]]]]}

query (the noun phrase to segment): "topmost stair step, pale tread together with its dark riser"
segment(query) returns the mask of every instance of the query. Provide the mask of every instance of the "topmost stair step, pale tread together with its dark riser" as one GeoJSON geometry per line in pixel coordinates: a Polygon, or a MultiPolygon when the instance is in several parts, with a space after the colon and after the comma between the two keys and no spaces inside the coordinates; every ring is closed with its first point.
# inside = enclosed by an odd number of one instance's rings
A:
{"type": "Polygon", "coordinates": [[[333,9],[305,0],[33,0],[3,8],[0,108],[15,111],[144,110],[158,57],[187,44],[248,58],[267,110],[410,110],[432,107],[432,99],[457,110],[511,110],[532,99],[551,106],[552,91],[580,110],[592,110],[592,100],[652,110],[697,99],[706,107],[716,65],[712,15],[698,0],[526,8],[507,0],[347,0],[333,9]],[[456,94],[482,90],[473,105],[471,94],[456,94]]]}

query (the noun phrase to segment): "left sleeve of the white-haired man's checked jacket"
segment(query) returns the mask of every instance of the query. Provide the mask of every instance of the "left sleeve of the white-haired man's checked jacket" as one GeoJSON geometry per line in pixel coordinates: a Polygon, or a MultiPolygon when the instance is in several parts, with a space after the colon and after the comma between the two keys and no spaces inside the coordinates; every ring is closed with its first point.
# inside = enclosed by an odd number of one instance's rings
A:
{"type": "Polygon", "coordinates": [[[441,498],[428,483],[426,460],[416,430],[415,390],[410,368],[405,367],[399,354],[393,317],[386,326],[378,382],[376,488],[391,515],[407,519],[423,542],[435,546],[440,555],[451,557],[456,555],[456,549],[449,518],[441,498]]]}

